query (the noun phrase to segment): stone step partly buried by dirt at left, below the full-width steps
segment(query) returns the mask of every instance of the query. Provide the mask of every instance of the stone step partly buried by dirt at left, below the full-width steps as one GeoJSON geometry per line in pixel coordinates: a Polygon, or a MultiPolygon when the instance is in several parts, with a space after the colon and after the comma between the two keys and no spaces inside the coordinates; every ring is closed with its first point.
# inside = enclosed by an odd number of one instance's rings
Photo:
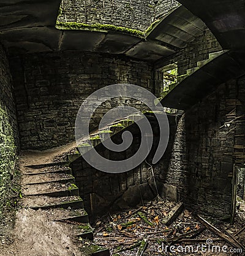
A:
{"type": "Polygon", "coordinates": [[[66,222],[80,222],[86,223],[89,222],[88,214],[85,209],[50,209],[49,215],[51,220],[66,222]]]}

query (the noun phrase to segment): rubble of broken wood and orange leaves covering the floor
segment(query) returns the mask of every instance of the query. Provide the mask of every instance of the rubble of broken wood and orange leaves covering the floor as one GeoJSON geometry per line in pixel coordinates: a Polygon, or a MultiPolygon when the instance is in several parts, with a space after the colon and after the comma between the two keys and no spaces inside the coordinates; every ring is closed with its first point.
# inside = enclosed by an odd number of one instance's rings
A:
{"type": "Polygon", "coordinates": [[[119,214],[108,213],[98,218],[92,225],[94,227],[94,241],[81,239],[81,243],[86,247],[108,248],[110,255],[113,256],[227,255],[227,253],[222,254],[222,247],[227,246],[227,250],[230,251],[236,242],[241,247],[245,244],[244,201],[239,201],[236,220],[233,225],[206,217],[204,219],[197,217],[187,209],[181,209],[181,205],[162,201],[157,197],[154,201],[145,203],[144,206],[131,211],[119,214]],[[170,216],[171,211],[176,211],[176,207],[181,211],[177,209],[178,215],[170,216]],[[166,217],[175,219],[166,225],[166,217]],[[200,218],[208,224],[202,225],[200,222],[203,223],[203,221],[200,218]],[[211,231],[210,226],[214,226],[215,230],[211,231]],[[216,229],[220,233],[216,232],[216,229]],[[226,241],[228,238],[232,241],[231,243],[226,241]],[[197,246],[202,244],[207,246],[206,252],[197,249],[197,246]],[[167,246],[168,249],[166,249],[167,246]],[[170,246],[175,246],[175,250],[170,251],[170,246]],[[187,246],[187,250],[190,248],[190,251],[184,254],[178,252],[178,246],[182,246],[183,250],[187,246]],[[221,251],[218,254],[217,252],[213,254],[212,248],[218,248],[216,246],[219,246],[221,251]],[[192,250],[198,251],[192,252],[192,250]]]}

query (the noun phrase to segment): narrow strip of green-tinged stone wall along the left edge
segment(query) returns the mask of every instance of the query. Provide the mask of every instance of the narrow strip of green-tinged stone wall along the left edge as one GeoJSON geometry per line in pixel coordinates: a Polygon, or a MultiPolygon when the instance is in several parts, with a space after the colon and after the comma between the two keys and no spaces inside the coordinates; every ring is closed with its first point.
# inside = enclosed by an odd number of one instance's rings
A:
{"type": "Polygon", "coordinates": [[[0,214],[6,204],[17,154],[18,135],[9,62],[0,45],[0,214]]]}

